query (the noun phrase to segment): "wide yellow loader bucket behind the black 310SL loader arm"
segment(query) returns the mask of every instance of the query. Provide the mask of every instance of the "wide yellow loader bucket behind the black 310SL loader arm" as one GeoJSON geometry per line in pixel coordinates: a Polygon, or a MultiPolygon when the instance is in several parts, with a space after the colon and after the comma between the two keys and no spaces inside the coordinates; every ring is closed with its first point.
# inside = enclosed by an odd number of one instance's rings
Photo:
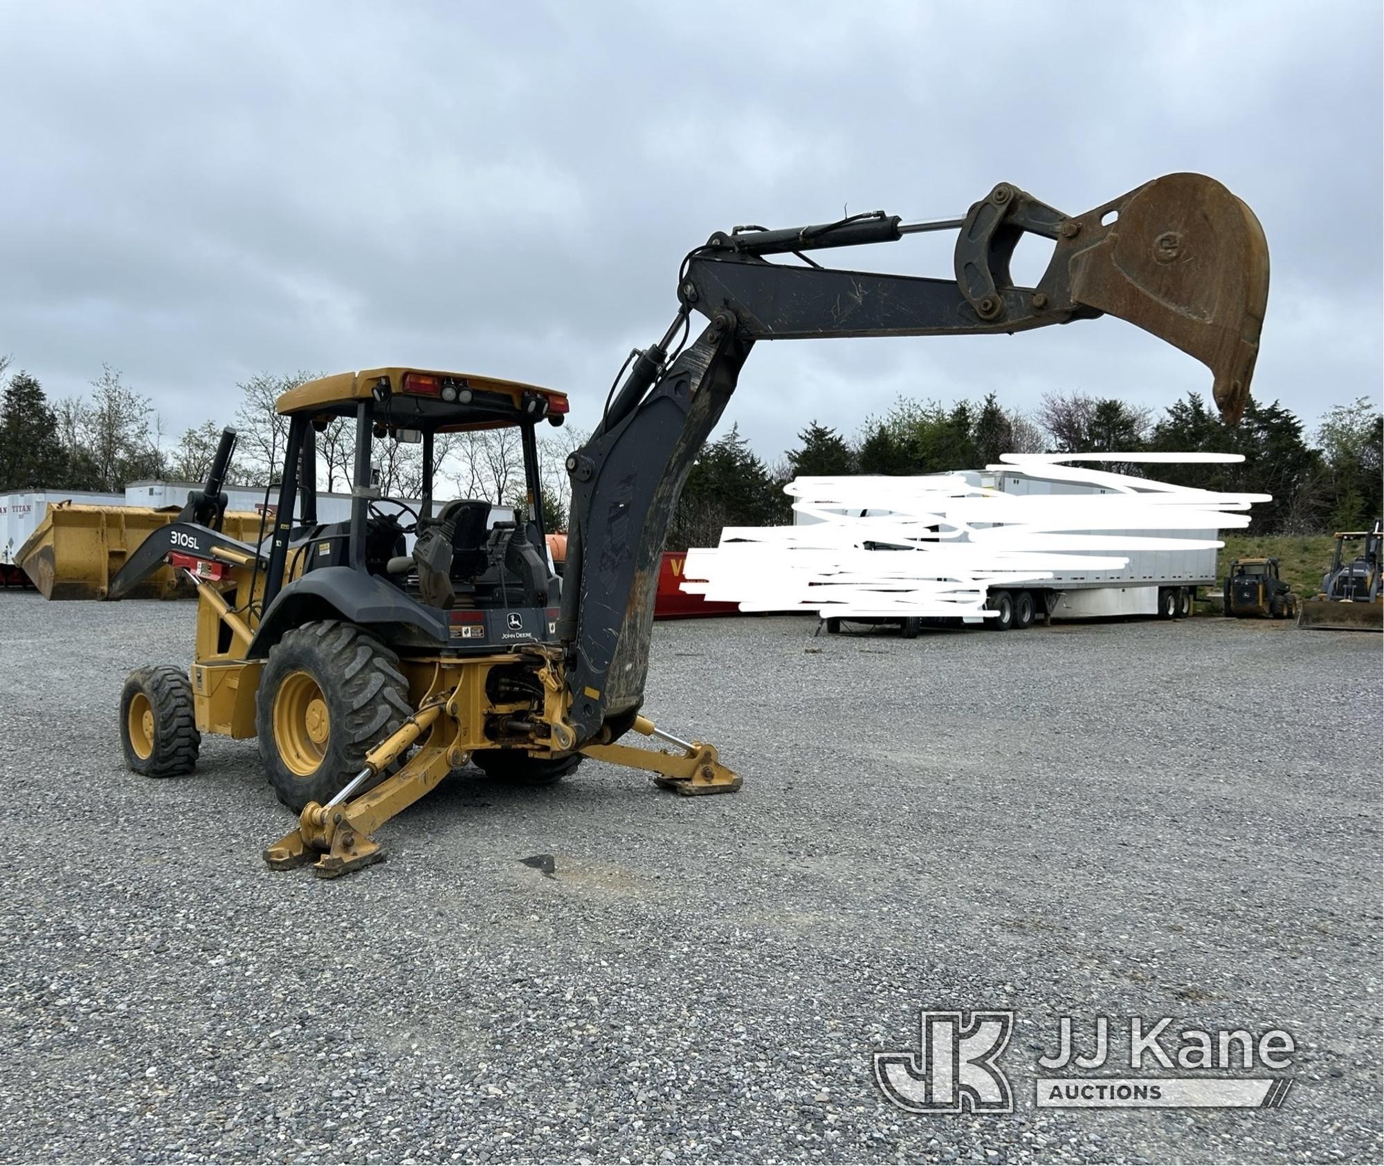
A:
{"type": "MultiPolygon", "coordinates": [[[[50,505],[15,560],[44,599],[105,599],[111,578],[145,538],[174,521],[176,509],[148,506],[50,505]]],[[[226,533],[253,542],[260,517],[227,513],[226,533]]],[[[192,595],[169,566],[140,584],[130,599],[192,595]]]]}

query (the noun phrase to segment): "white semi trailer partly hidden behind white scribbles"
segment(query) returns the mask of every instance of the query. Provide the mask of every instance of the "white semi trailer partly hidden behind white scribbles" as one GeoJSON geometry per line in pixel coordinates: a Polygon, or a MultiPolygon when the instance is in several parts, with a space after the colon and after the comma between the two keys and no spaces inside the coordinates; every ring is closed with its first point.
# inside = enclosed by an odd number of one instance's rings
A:
{"type": "MultiPolygon", "coordinates": [[[[947,477],[962,477],[972,487],[1012,495],[1089,497],[1122,492],[1092,483],[1045,479],[1034,466],[1013,472],[1006,469],[963,470],[947,474],[947,477]]],[[[865,510],[859,512],[859,516],[875,517],[890,512],[865,510]]],[[[817,519],[800,512],[794,516],[794,523],[811,521],[817,521],[817,519]]],[[[1215,530],[1100,530],[1099,533],[1185,541],[1214,541],[1218,538],[1215,530]]],[[[1109,559],[1111,552],[1067,553],[1074,557],[1106,556],[1109,559]]],[[[1178,620],[1192,613],[1192,602],[1199,586],[1218,585],[1215,548],[1121,550],[1117,553],[1127,559],[1125,566],[1117,570],[1066,567],[1052,571],[1050,578],[1035,580],[1031,584],[990,586],[987,588],[985,606],[994,614],[967,616],[962,617],[960,621],[1008,631],[1027,628],[1035,620],[1092,620],[1120,616],[1178,620]]],[[[828,631],[839,631],[841,622],[839,618],[829,618],[826,621],[828,631]]],[[[847,617],[846,622],[857,621],[847,617]]],[[[908,617],[902,621],[861,620],[859,622],[900,622],[902,633],[913,636],[929,621],[920,617],[908,617]]]]}

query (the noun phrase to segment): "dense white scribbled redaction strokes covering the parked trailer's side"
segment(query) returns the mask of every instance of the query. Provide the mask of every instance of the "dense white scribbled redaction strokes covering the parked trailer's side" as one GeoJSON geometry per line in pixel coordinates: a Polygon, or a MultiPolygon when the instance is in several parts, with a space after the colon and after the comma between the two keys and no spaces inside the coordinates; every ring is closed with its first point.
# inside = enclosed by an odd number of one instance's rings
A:
{"type": "Polygon", "coordinates": [[[688,552],[685,592],[742,611],[984,618],[988,586],[1041,586],[1055,573],[1120,571],[1133,550],[1219,548],[1268,494],[1218,494],[1070,462],[1243,462],[1239,454],[1002,454],[987,476],[1075,494],[1006,494],[956,474],[800,477],[785,487],[805,521],[727,527],[688,552]],[[1107,492],[1098,492],[1104,490],[1107,492]],[[1154,534],[1149,534],[1153,531],[1154,534]],[[1185,533],[1185,534],[1182,534],[1185,533]],[[1124,553],[1121,553],[1124,552],[1124,553]],[[699,582],[700,581],[700,582],[699,582]]]}

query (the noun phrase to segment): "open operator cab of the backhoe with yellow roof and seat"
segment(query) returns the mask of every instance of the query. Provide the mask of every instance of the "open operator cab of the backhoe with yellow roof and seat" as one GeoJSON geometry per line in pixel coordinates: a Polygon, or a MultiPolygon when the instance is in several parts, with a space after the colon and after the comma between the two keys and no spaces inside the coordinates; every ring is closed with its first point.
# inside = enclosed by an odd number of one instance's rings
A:
{"type": "Polygon", "coordinates": [[[293,517],[270,549],[266,621],[277,603],[304,603],[329,584],[385,609],[418,647],[495,650],[552,639],[561,580],[547,550],[534,430],[563,423],[566,394],[472,373],[383,368],[310,380],[275,408],[291,419],[278,513],[293,517]],[[342,419],[347,440],[354,420],[352,515],[318,523],[318,444],[342,419]],[[522,462],[520,497],[487,497],[475,485],[468,492],[479,497],[439,497],[454,492],[439,473],[453,434],[489,438],[500,430],[516,430],[497,456],[522,462]],[[408,488],[399,484],[401,465],[410,468],[408,488]]]}

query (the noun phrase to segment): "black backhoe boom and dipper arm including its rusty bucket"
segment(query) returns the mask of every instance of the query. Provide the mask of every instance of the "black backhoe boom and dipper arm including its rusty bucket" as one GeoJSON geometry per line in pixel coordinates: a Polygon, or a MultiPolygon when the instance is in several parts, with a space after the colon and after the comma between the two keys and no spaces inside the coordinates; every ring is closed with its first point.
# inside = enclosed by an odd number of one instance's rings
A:
{"type": "Polygon", "coordinates": [[[757,340],[1021,332],[1109,313],[1205,364],[1217,405],[1235,423],[1268,288],[1258,220],[1201,174],[1156,178],[1080,216],[1001,183],[960,220],[904,223],[877,212],[711,235],[684,261],[673,325],[631,353],[601,423],[567,458],[573,499],[559,638],[579,744],[608,744],[634,723],[673,510],[757,340]],[[948,279],[833,270],[805,255],[937,230],[958,232],[948,279]],[[1024,234],[1055,242],[1037,288],[1014,286],[1009,274],[1024,234]],[[801,266],[771,255],[797,256],[801,266]],[[693,313],[707,326],[670,357],[693,313]]]}

